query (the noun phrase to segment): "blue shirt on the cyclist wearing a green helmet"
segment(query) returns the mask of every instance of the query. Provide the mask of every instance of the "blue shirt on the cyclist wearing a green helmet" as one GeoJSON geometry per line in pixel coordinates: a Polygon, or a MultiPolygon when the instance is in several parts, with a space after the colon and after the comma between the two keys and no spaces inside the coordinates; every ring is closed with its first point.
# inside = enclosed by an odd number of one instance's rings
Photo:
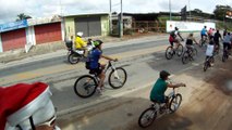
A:
{"type": "Polygon", "coordinates": [[[100,55],[101,55],[101,51],[98,50],[98,49],[94,49],[91,51],[91,54],[90,54],[90,58],[89,58],[89,62],[90,62],[90,69],[93,68],[98,68],[98,62],[100,60],[100,55]]]}

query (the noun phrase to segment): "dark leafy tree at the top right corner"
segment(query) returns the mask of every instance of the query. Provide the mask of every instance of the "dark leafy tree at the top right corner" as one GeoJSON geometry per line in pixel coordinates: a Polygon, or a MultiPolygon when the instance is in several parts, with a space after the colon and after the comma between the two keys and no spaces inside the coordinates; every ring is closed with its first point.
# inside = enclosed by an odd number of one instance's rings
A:
{"type": "Polygon", "coordinates": [[[216,5],[216,9],[213,11],[215,17],[217,20],[221,20],[223,21],[225,17],[225,13],[227,11],[231,11],[231,6],[230,5],[216,5]]]}

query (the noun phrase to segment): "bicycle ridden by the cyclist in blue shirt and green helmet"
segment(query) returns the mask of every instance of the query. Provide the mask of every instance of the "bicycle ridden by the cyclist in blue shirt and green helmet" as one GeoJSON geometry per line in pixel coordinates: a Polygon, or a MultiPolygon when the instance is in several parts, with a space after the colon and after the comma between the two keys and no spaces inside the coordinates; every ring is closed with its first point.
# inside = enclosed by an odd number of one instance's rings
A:
{"type": "MultiPolygon", "coordinates": [[[[105,74],[111,68],[108,77],[108,82],[113,89],[122,88],[126,81],[127,74],[123,67],[115,67],[111,61],[108,62],[105,74]],[[121,74],[121,75],[120,75],[121,74]]],[[[74,92],[81,98],[91,96],[98,87],[100,79],[96,73],[89,70],[90,75],[81,76],[74,84],[74,92]],[[94,76],[91,76],[94,75],[94,76]]]]}

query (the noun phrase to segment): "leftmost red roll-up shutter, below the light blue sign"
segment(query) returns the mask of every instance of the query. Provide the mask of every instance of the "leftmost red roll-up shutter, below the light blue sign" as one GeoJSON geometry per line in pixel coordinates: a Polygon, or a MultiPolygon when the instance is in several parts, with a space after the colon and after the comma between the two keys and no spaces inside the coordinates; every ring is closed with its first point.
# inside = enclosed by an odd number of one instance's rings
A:
{"type": "Polygon", "coordinates": [[[1,34],[3,51],[24,48],[26,44],[25,29],[16,29],[1,34]]]}

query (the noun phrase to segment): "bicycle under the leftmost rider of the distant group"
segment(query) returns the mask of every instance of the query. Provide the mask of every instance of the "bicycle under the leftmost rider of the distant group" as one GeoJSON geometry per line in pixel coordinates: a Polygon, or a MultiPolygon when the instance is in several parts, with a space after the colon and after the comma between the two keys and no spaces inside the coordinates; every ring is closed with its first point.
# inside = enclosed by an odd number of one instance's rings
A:
{"type": "Polygon", "coordinates": [[[178,44],[176,49],[173,49],[172,46],[169,46],[166,49],[166,58],[171,60],[174,54],[176,54],[178,56],[181,56],[182,53],[183,53],[183,46],[181,43],[178,44]]]}

